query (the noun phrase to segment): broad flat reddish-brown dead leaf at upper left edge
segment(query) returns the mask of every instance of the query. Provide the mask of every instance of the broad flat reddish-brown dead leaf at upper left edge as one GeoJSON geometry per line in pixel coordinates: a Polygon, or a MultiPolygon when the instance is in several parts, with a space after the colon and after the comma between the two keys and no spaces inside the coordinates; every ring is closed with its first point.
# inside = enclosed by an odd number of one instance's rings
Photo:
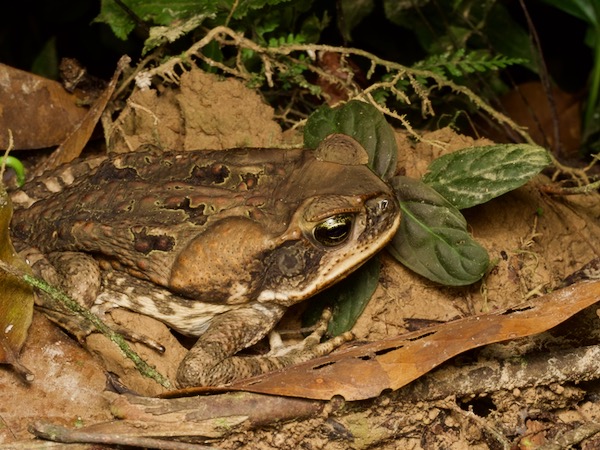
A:
{"type": "Polygon", "coordinates": [[[59,145],[87,113],[56,81],[4,64],[0,79],[0,148],[8,146],[6,130],[17,150],[59,145]]]}

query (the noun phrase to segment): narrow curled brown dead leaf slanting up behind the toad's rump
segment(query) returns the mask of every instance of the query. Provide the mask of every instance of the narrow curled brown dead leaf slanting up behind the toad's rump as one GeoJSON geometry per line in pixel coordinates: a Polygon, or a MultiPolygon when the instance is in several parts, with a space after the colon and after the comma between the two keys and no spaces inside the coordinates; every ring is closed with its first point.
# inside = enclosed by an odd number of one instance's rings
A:
{"type": "Polygon", "coordinates": [[[41,175],[43,172],[49,169],[54,169],[62,164],[73,161],[75,158],[81,155],[82,150],[87,145],[96,124],[100,120],[100,116],[106,109],[108,101],[112,97],[117,81],[121,72],[131,59],[128,56],[123,56],[117,63],[117,70],[115,71],[110,83],[104,92],[96,99],[87,115],[77,125],[77,127],[68,135],[68,137],[61,143],[60,147],[50,155],[50,157],[40,164],[35,169],[35,176],[41,175]]]}

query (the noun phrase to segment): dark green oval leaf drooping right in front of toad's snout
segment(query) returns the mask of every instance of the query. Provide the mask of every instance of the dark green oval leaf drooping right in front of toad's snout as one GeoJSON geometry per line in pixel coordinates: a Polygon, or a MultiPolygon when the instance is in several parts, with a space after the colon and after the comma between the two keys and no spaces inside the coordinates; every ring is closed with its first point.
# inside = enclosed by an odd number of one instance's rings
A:
{"type": "Polygon", "coordinates": [[[388,251],[402,264],[437,283],[464,286],[487,270],[486,250],[467,232],[460,211],[431,187],[396,176],[391,185],[400,201],[400,229],[388,251]]]}

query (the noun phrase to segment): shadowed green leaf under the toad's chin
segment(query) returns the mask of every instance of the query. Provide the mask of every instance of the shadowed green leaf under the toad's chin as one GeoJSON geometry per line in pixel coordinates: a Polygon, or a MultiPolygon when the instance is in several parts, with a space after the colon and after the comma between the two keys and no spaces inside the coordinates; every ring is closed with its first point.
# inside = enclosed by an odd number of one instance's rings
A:
{"type": "Polygon", "coordinates": [[[314,296],[311,300],[314,307],[307,311],[303,323],[315,324],[323,306],[327,306],[333,313],[327,334],[339,336],[352,329],[377,288],[380,270],[381,262],[375,256],[348,278],[314,296]]]}

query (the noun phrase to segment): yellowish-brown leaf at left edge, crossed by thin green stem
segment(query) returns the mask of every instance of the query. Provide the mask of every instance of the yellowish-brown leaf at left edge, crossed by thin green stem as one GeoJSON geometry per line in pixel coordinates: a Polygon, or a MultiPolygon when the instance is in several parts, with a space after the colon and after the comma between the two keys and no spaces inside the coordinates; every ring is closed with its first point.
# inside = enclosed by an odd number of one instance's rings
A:
{"type": "MultiPolygon", "coordinates": [[[[0,260],[31,273],[29,265],[15,252],[10,241],[12,204],[0,185],[0,260]]],[[[26,379],[32,374],[19,363],[19,352],[27,339],[33,315],[33,288],[20,278],[0,271],[0,363],[10,364],[26,379]]]]}

